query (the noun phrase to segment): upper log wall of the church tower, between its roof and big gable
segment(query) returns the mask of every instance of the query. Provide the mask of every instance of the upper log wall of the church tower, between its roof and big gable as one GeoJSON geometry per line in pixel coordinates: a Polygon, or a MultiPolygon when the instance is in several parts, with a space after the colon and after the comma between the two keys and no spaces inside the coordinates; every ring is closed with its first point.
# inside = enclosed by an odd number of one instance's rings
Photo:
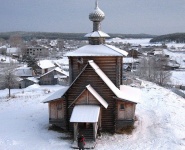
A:
{"type": "Polygon", "coordinates": [[[116,56],[96,56],[96,57],[83,57],[83,61],[79,63],[79,57],[69,57],[71,82],[76,79],[81,70],[85,67],[89,60],[94,62],[100,69],[109,77],[109,79],[119,87],[122,84],[122,57],[116,56]]]}

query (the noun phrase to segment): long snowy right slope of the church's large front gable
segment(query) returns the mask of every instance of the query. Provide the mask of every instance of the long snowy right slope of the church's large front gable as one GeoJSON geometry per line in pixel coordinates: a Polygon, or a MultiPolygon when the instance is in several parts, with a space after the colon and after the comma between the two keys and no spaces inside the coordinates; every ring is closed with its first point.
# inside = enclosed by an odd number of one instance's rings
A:
{"type": "Polygon", "coordinates": [[[125,93],[120,91],[93,60],[90,60],[89,64],[118,98],[136,102],[134,97],[128,97],[125,93]]]}

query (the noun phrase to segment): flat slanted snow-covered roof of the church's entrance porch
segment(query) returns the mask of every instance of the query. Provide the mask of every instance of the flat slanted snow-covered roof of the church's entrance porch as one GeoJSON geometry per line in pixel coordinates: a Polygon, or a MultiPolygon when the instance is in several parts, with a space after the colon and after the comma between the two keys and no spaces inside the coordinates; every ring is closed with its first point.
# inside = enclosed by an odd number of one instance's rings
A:
{"type": "Polygon", "coordinates": [[[70,118],[70,122],[98,122],[100,106],[76,105],[70,118]]]}

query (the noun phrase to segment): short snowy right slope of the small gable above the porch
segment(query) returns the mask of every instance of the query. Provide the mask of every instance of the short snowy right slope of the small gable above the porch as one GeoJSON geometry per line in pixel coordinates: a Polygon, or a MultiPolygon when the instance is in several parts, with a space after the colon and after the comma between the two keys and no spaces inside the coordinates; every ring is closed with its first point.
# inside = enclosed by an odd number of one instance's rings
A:
{"type": "Polygon", "coordinates": [[[105,107],[108,107],[108,103],[95,91],[91,85],[87,85],[88,91],[105,107]]]}

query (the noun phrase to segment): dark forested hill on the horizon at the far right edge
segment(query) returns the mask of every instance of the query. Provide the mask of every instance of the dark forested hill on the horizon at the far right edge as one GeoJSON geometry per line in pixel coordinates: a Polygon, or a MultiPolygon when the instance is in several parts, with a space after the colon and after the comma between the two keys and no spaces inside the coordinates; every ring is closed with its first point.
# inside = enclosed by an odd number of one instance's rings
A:
{"type": "Polygon", "coordinates": [[[176,42],[176,43],[185,43],[185,33],[174,33],[174,34],[166,34],[154,37],[150,40],[151,43],[158,43],[158,42],[176,42]]]}

